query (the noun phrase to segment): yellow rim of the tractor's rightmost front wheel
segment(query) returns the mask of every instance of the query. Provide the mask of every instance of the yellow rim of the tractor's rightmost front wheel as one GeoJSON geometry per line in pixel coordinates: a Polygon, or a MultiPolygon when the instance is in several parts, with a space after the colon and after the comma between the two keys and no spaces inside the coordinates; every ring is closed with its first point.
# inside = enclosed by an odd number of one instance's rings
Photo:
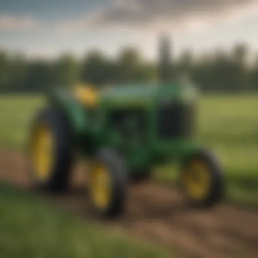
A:
{"type": "Polygon", "coordinates": [[[206,163],[193,161],[183,175],[184,187],[187,195],[197,201],[207,197],[211,185],[211,172],[206,163]]]}

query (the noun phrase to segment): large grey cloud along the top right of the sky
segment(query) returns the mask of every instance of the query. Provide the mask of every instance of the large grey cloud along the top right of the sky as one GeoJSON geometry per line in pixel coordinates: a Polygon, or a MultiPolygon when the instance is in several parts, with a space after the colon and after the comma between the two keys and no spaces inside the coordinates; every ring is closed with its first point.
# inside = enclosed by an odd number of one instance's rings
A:
{"type": "MultiPolygon", "coordinates": [[[[191,16],[217,15],[254,0],[120,0],[102,10],[95,23],[143,25],[158,21],[185,20],[191,16]]],[[[257,3],[257,2],[256,2],[257,3]]]]}

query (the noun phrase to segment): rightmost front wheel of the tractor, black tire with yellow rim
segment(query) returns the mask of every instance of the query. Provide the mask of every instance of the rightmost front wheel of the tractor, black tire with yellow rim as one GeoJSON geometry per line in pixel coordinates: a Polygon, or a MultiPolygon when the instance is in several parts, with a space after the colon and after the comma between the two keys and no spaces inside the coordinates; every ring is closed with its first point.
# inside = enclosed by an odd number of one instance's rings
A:
{"type": "Polygon", "coordinates": [[[179,185],[190,206],[208,208],[221,202],[223,178],[215,156],[200,150],[182,164],[179,185]]]}

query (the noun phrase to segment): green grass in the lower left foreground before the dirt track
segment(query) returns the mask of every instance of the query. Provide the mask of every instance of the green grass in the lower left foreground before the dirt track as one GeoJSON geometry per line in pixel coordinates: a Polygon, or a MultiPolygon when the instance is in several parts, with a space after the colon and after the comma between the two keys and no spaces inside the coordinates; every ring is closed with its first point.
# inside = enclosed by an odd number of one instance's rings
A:
{"type": "Polygon", "coordinates": [[[5,258],[168,258],[163,248],[65,214],[0,184],[0,256],[5,258]]]}

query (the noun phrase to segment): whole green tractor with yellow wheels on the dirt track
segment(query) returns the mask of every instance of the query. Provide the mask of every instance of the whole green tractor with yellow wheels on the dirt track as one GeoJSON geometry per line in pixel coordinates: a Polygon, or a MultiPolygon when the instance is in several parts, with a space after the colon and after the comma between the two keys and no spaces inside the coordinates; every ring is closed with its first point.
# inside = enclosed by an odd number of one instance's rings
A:
{"type": "Polygon", "coordinates": [[[52,91],[30,133],[37,188],[68,189],[80,152],[90,161],[90,199],[102,216],[120,215],[128,183],[148,179],[153,166],[171,161],[179,164],[178,185],[189,204],[205,208],[221,201],[220,166],[194,138],[196,91],[169,78],[168,49],[163,41],[159,84],[52,91]]]}

